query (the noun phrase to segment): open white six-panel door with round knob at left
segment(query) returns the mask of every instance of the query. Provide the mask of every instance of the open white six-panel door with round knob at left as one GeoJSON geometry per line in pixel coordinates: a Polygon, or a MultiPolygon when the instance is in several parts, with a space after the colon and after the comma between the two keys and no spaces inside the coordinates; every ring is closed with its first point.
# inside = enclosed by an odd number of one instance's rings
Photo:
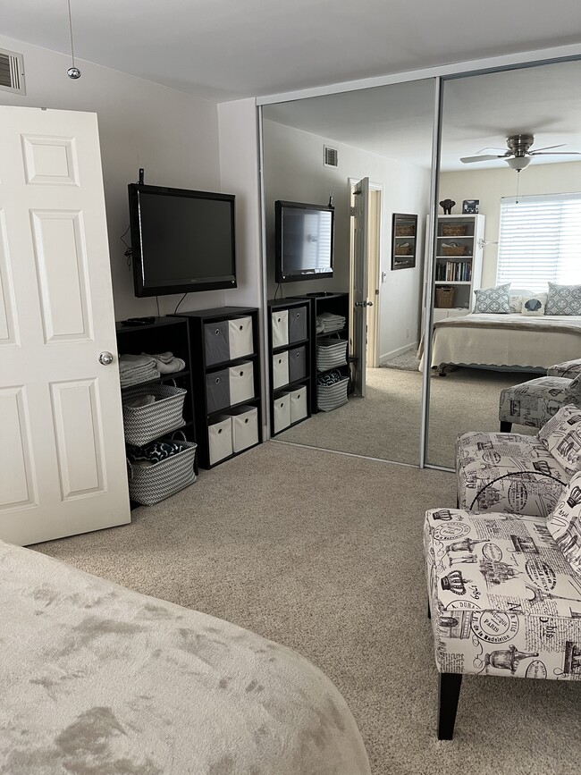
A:
{"type": "Polygon", "coordinates": [[[130,521],[95,114],[0,106],[0,436],[0,539],[130,521]]]}

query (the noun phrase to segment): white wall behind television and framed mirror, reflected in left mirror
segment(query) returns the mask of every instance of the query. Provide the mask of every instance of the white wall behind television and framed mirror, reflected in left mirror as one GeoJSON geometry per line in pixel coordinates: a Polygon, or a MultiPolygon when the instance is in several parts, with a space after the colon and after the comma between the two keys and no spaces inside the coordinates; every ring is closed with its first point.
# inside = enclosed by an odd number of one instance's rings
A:
{"type": "Polygon", "coordinates": [[[368,153],[282,124],[264,122],[265,226],[268,296],[274,282],[274,202],[276,199],[326,204],[333,192],[335,255],[332,280],[290,282],[284,295],[310,291],[349,291],[349,178],[369,177],[383,187],[381,270],[387,282],[380,286],[380,358],[417,342],[421,304],[424,226],[428,210],[428,170],[368,153]],[[339,166],[325,167],[324,144],[337,147],[339,166]],[[392,214],[417,213],[419,240],[414,269],[391,270],[392,214]]]}

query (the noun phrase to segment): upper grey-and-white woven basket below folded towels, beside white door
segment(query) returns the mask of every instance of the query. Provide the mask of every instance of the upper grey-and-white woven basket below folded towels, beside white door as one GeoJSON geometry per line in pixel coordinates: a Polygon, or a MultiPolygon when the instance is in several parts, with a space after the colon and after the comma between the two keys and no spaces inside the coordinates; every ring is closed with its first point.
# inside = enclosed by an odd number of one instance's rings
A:
{"type": "Polygon", "coordinates": [[[125,441],[140,447],[162,434],[185,425],[182,417],[186,390],[175,384],[140,385],[123,392],[123,427],[125,441]],[[147,407],[128,407],[126,404],[139,396],[152,395],[156,400],[147,407]]]}

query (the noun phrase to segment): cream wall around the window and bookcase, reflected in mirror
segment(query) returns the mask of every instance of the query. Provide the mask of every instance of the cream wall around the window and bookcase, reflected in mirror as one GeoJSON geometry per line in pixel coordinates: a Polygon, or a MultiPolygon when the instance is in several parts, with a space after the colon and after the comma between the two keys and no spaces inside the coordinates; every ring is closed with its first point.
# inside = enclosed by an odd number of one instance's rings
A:
{"type": "MultiPolygon", "coordinates": [[[[452,213],[462,212],[463,199],[480,199],[478,212],[486,216],[484,240],[498,241],[501,224],[501,198],[514,197],[517,193],[517,175],[520,176],[519,196],[533,194],[565,194],[581,191],[581,162],[561,164],[531,164],[520,173],[508,165],[500,169],[469,169],[440,176],[439,199],[450,198],[456,202],[452,213]]],[[[496,284],[498,248],[484,247],[482,288],[496,284]]]]}

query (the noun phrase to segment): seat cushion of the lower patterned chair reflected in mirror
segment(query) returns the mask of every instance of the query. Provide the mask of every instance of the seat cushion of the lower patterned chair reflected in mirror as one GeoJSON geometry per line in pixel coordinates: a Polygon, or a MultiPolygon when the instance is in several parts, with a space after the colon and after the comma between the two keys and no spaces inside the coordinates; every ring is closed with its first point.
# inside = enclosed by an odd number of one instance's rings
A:
{"type": "Polygon", "coordinates": [[[556,415],[569,400],[571,380],[565,377],[541,376],[501,391],[501,422],[540,428],[556,415]]]}

